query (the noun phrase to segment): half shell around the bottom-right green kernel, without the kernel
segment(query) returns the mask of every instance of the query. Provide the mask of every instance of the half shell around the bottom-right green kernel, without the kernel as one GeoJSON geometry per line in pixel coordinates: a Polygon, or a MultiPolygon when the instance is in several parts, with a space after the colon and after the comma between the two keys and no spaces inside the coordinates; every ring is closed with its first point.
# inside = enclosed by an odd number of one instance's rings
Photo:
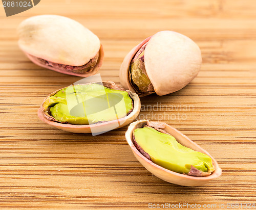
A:
{"type": "Polygon", "coordinates": [[[175,129],[174,127],[166,123],[153,122],[153,121],[150,122],[148,120],[139,120],[139,121],[133,122],[130,124],[129,128],[127,129],[125,133],[125,138],[127,143],[130,145],[136,159],[152,174],[154,174],[155,176],[167,182],[175,183],[176,185],[182,185],[182,186],[200,186],[200,185],[204,185],[211,179],[217,178],[221,175],[222,170],[219,167],[217,161],[214,158],[212,158],[212,156],[206,150],[201,148],[195,142],[191,141],[188,137],[183,135],[179,130],[175,129]],[[133,142],[133,131],[136,128],[142,128],[144,125],[148,125],[154,128],[160,128],[165,132],[167,132],[168,134],[172,135],[180,144],[184,145],[185,147],[188,147],[195,151],[199,151],[209,155],[212,160],[212,164],[215,167],[215,170],[209,176],[202,176],[202,177],[189,176],[186,174],[180,174],[174,171],[170,171],[148,160],[147,158],[145,158],[145,156],[143,156],[138,151],[138,149],[135,147],[133,142]]]}

